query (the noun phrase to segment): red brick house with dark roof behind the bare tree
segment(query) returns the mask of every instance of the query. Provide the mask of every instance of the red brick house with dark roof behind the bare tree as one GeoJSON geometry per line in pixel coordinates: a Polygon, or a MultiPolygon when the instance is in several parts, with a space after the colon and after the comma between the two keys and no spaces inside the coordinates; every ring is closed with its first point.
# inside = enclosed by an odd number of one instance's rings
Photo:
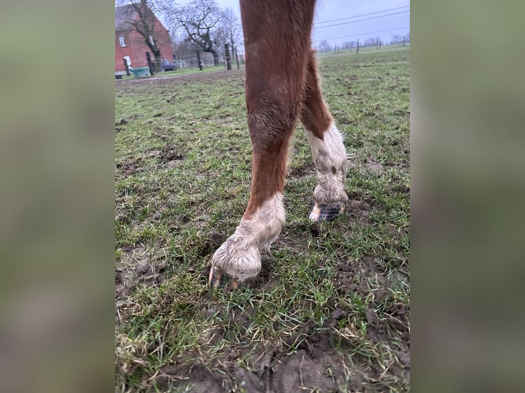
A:
{"type": "Polygon", "coordinates": [[[141,14],[147,21],[145,24],[147,27],[142,30],[143,33],[148,36],[151,43],[160,49],[162,59],[173,62],[169,32],[149,10],[145,2],[138,5],[122,5],[115,8],[115,75],[125,75],[124,59],[133,68],[148,66],[147,52],[151,60],[155,60],[154,53],[145,43],[145,37],[131,24],[141,21],[141,14]],[[141,12],[138,12],[137,8],[140,8],[141,12]]]}

